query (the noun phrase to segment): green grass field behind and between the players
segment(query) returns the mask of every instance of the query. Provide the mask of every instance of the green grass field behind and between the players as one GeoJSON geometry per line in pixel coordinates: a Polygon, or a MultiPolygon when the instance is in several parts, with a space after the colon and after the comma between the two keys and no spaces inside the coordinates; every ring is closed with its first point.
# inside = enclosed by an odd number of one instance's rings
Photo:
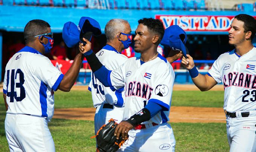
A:
{"type": "MultiPolygon", "coordinates": [[[[223,91],[174,91],[172,106],[222,107],[223,91]]],[[[2,97],[2,93],[0,93],[2,97]]],[[[91,94],[87,91],[55,92],[55,108],[92,107],[91,94]]],[[[4,120],[5,106],[0,99],[0,150],[9,151],[4,120]]],[[[172,123],[176,139],[176,152],[226,152],[229,145],[226,124],[221,123],[172,123]]],[[[52,119],[49,128],[58,152],[93,152],[95,139],[93,121],[52,119]]]]}

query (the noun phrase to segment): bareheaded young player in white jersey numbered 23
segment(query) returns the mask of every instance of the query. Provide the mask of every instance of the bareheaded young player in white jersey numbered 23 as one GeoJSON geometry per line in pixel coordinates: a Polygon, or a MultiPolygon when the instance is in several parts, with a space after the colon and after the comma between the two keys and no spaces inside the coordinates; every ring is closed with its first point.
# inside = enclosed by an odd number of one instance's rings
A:
{"type": "Polygon", "coordinates": [[[229,30],[229,44],[235,49],[221,54],[207,75],[198,73],[190,55],[181,61],[201,91],[223,83],[230,152],[256,151],[256,48],[251,43],[255,33],[256,20],[239,14],[229,30]]]}

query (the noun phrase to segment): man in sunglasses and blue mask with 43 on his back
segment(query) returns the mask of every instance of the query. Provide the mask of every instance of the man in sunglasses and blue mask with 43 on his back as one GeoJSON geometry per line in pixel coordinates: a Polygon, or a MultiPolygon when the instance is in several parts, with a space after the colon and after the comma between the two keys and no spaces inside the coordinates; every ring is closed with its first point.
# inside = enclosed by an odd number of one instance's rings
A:
{"type": "Polygon", "coordinates": [[[55,151],[48,128],[54,111],[54,91],[70,91],[82,64],[76,55],[63,75],[47,57],[53,45],[50,25],[29,21],[24,28],[26,46],[9,60],[5,68],[3,97],[6,105],[5,133],[11,152],[55,151]]]}

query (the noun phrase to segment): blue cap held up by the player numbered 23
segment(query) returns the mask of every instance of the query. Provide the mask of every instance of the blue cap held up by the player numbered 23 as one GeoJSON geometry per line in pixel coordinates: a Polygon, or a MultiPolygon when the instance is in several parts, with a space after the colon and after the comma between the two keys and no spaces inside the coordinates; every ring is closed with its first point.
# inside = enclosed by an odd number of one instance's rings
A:
{"type": "Polygon", "coordinates": [[[165,34],[160,44],[173,50],[181,51],[184,57],[187,57],[186,54],[189,52],[185,46],[186,42],[186,32],[178,25],[172,25],[165,29],[165,34]]]}

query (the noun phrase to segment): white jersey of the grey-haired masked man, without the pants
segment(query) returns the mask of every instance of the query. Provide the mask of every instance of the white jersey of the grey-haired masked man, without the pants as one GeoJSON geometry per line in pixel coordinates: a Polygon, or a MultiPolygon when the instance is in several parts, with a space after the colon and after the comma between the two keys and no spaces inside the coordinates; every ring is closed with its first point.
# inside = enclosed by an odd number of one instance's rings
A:
{"type": "MultiPolygon", "coordinates": [[[[120,54],[110,45],[104,46],[96,56],[109,70],[117,69],[128,59],[125,55],[120,54]]],[[[91,91],[94,107],[98,107],[104,103],[116,104],[117,101],[119,107],[123,106],[123,99],[125,97],[124,88],[121,87],[116,91],[112,91],[110,87],[105,87],[98,79],[96,79],[93,72],[91,72],[91,81],[88,89],[91,91]]]]}

